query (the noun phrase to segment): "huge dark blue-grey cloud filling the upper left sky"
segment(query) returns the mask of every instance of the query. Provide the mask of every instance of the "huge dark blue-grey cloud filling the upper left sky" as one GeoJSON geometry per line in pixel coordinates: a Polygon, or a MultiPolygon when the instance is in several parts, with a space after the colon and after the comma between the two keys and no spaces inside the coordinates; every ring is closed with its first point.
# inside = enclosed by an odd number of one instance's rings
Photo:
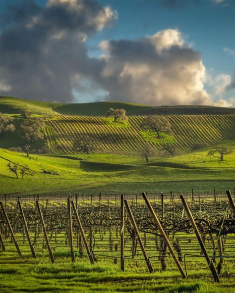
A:
{"type": "Polygon", "coordinates": [[[25,0],[9,7],[0,34],[0,80],[7,85],[0,95],[71,101],[74,76],[92,78],[102,63],[87,56],[87,37],[116,19],[116,11],[95,0],[49,0],[44,7],[25,0]]]}

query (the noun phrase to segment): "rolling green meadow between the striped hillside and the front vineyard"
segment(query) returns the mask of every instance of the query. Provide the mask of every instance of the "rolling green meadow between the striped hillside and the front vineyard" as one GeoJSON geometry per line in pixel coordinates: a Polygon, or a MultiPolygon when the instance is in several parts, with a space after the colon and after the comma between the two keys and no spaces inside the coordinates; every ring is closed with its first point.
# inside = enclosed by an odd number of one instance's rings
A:
{"type": "MultiPolygon", "coordinates": [[[[235,142],[229,147],[235,149],[235,142]]],[[[154,193],[191,188],[212,191],[214,186],[233,190],[235,152],[224,162],[207,156],[207,152],[208,148],[176,157],[151,158],[146,164],[139,157],[108,154],[31,155],[28,159],[23,153],[0,149],[0,193],[154,193]],[[28,165],[33,176],[16,179],[2,157],[28,165]],[[60,176],[43,174],[44,170],[57,171],[60,176]]]]}

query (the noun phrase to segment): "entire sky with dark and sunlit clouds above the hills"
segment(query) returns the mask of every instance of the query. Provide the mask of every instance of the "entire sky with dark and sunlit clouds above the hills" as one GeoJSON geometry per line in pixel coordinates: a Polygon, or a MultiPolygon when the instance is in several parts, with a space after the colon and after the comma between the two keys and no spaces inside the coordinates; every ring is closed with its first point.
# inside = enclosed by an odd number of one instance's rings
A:
{"type": "Polygon", "coordinates": [[[0,96],[235,107],[235,0],[1,0],[0,96]]]}

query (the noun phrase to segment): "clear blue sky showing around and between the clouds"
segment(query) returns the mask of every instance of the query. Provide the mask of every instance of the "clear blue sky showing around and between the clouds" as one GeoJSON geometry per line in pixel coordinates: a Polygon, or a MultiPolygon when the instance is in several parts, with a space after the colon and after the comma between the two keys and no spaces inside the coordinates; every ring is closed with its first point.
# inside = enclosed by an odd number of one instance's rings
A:
{"type": "MultiPolygon", "coordinates": [[[[59,2],[59,0],[57,1],[59,2]]],[[[160,31],[174,29],[181,33],[182,39],[187,46],[193,49],[193,52],[198,51],[200,53],[200,58],[206,68],[206,81],[203,81],[204,89],[212,97],[213,102],[235,98],[235,82],[233,81],[235,75],[234,0],[97,1],[102,7],[110,6],[112,11],[116,10],[118,18],[112,26],[105,25],[102,30],[94,30],[93,33],[87,34],[85,44],[88,58],[99,59],[100,55],[104,53],[99,47],[103,40],[116,40],[116,45],[119,44],[120,40],[132,40],[133,44],[137,45],[134,42],[138,39],[153,36],[160,31]]],[[[29,0],[28,2],[34,1],[29,0]]],[[[47,1],[35,0],[35,2],[43,7],[47,1]]],[[[23,0],[0,1],[1,12],[4,13],[3,7],[9,3],[11,5],[19,4],[23,3],[23,0]]],[[[113,63],[115,63],[116,58],[117,56],[112,56],[113,63]]],[[[106,67],[110,64],[106,64],[106,67]]],[[[82,75],[79,81],[80,87],[71,89],[75,95],[75,100],[84,102],[106,99],[105,95],[108,92],[110,93],[111,88],[106,86],[104,80],[101,82],[101,78],[94,78],[93,76],[90,78],[83,73],[80,75],[82,75]],[[87,91],[84,90],[86,86],[89,88],[87,91]]],[[[109,81],[106,82],[109,83],[109,81]]],[[[9,84],[10,87],[14,89],[11,84],[9,84]]],[[[131,87],[133,88],[134,84],[131,84],[131,87]]],[[[7,87],[5,86],[5,88],[7,87]]],[[[115,85],[113,88],[117,89],[118,87],[115,85]]],[[[12,90],[12,93],[15,92],[12,90]]],[[[33,93],[33,90],[30,93],[33,93]]],[[[130,94],[133,94],[133,92],[129,89],[123,93],[126,96],[130,94]]],[[[113,97],[118,99],[114,93],[111,98],[113,97]]]]}

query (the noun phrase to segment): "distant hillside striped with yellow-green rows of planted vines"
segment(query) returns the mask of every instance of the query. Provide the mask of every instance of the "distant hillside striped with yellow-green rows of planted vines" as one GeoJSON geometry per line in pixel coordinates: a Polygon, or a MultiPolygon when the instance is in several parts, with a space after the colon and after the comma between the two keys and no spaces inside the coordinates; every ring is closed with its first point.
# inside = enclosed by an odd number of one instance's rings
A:
{"type": "Polygon", "coordinates": [[[48,120],[47,128],[53,153],[75,153],[77,139],[96,139],[97,153],[135,155],[144,143],[161,149],[164,142],[175,140],[178,149],[190,149],[195,143],[216,143],[235,140],[234,115],[182,115],[164,116],[172,125],[174,138],[155,139],[145,136],[140,124],[141,116],[131,116],[128,124],[119,125],[106,117],[64,116],[48,120]]]}

